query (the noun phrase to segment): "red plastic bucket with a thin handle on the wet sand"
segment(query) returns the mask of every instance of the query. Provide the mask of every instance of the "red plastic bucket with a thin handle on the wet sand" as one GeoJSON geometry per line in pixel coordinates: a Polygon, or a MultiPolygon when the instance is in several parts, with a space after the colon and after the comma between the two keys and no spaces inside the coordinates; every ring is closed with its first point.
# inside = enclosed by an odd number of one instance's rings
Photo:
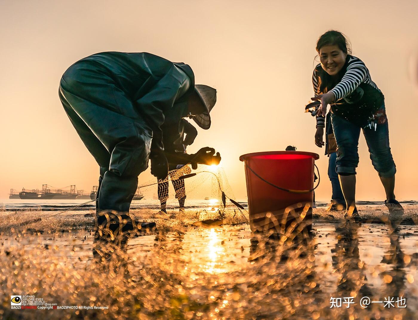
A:
{"type": "Polygon", "coordinates": [[[310,229],[317,159],[316,153],[299,151],[257,152],[240,157],[245,164],[252,231],[283,231],[289,225],[297,228],[302,220],[310,229]]]}

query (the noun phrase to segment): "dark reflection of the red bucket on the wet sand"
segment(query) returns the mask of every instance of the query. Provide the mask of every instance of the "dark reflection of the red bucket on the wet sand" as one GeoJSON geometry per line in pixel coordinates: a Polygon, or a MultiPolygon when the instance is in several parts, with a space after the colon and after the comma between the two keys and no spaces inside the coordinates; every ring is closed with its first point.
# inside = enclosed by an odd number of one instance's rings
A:
{"type": "MultiPolygon", "coordinates": [[[[288,310],[306,307],[313,312],[324,302],[316,272],[316,241],[311,232],[299,234],[253,233],[249,262],[258,270],[255,291],[263,292],[266,303],[285,303],[288,310]],[[279,299],[280,297],[280,299],[279,299]]],[[[274,308],[256,312],[261,319],[273,318],[274,308]]],[[[316,318],[317,319],[317,318],[316,318]]]]}

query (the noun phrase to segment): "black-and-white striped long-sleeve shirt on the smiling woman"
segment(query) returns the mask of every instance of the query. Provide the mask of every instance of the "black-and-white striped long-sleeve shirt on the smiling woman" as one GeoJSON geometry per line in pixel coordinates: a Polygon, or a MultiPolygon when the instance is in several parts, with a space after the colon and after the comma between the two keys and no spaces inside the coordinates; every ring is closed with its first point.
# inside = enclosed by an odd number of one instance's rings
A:
{"type": "MultiPolygon", "coordinates": [[[[334,86],[333,89],[329,90],[334,93],[336,102],[352,94],[352,92],[362,83],[370,84],[373,88],[379,90],[377,85],[372,81],[369,69],[367,69],[364,62],[359,58],[351,55],[349,55],[348,58],[349,61],[344,76],[342,77],[341,81],[336,84],[336,86],[334,86]]],[[[312,75],[312,84],[314,86],[315,95],[322,93],[319,91],[318,75],[318,71],[321,69],[321,63],[319,63],[315,67],[314,73],[312,75]]],[[[316,117],[316,127],[325,127],[325,117],[316,117]]]]}

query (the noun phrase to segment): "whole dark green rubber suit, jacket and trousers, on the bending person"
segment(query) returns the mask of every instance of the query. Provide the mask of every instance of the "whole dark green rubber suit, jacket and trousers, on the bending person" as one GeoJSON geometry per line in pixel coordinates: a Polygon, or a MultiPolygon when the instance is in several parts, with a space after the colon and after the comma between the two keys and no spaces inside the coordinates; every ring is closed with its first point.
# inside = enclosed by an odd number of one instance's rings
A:
{"type": "Polygon", "coordinates": [[[59,97],[100,166],[98,210],[129,211],[150,153],[174,149],[193,90],[188,65],[150,53],[97,53],[65,71],[59,97]]]}

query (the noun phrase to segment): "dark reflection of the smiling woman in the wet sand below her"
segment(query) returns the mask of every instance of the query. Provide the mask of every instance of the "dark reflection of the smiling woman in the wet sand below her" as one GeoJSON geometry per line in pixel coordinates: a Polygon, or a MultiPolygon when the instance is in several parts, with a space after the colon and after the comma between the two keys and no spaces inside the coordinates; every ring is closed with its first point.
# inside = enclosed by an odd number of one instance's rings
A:
{"type": "MultiPolygon", "coordinates": [[[[405,297],[405,261],[408,258],[405,257],[400,247],[398,226],[401,220],[399,217],[390,217],[387,220],[387,229],[383,229],[388,231],[387,235],[381,233],[378,235],[379,238],[375,239],[379,243],[385,243],[384,237],[387,236],[390,247],[381,262],[392,266],[389,270],[383,266],[371,268],[372,277],[379,275],[383,282],[383,286],[377,288],[368,283],[367,266],[360,259],[358,230],[361,227],[351,221],[336,225],[337,242],[331,250],[332,264],[339,274],[336,297],[354,297],[355,302],[352,307],[354,314],[342,309],[347,317],[349,314],[355,317],[359,317],[360,314],[371,314],[371,317],[376,318],[396,315],[395,319],[409,319],[410,310],[407,307],[390,310],[386,302],[387,300],[396,302],[399,297],[405,297]],[[380,274],[377,273],[379,270],[380,274]],[[364,306],[359,303],[363,297],[370,298],[369,305],[364,306]]],[[[396,303],[392,305],[392,307],[395,306],[397,306],[396,303]]]]}

